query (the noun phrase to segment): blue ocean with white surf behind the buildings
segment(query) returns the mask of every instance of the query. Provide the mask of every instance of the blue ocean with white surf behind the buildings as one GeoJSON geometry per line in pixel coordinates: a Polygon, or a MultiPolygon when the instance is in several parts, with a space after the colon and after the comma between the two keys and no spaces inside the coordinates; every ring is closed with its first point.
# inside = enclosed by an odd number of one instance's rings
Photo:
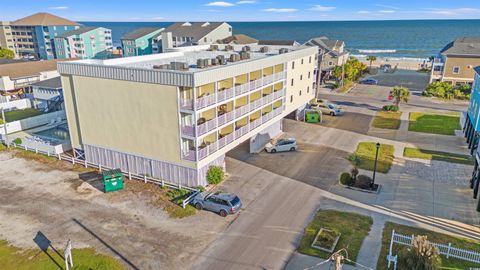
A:
{"type": "MultiPolygon", "coordinates": [[[[80,22],[112,29],[113,43],[139,27],[166,27],[171,22],[80,22]]],[[[345,41],[351,54],[390,59],[425,59],[437,55],[461,36],[480,37],[480,20],[230,22],[235,34],[257,39],[294,39],[305,42],[327,36],[345,41]]]]}

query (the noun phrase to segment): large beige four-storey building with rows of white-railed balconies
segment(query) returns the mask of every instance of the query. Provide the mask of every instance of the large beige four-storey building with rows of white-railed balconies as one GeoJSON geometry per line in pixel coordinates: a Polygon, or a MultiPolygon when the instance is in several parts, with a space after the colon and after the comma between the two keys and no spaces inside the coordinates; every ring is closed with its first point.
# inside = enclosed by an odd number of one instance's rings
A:
{"type": "MultiPolygon", "coordinates": [[[[201,45],[59,63],[75,155],[124,172],[205,186],[212,165],[314,98],[313,47],[201,45]]],[[[227,170],[228,171],[228,170],[227,170]]]]}

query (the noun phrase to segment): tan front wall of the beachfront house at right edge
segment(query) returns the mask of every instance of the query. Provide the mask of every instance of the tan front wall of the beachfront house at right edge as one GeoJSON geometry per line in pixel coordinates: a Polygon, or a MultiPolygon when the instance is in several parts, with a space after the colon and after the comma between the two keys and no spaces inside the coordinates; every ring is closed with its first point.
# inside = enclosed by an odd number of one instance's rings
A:
{"type": "Polygon", "coordinates": [[[476,66],[480,66],[480,57],[449,56],[444,66],[443,81],[473,81],[475,75],[473,68],[476,66]],[[459,74],[453,73],[453,67],[455,66],[460,67],[459,74]]]}

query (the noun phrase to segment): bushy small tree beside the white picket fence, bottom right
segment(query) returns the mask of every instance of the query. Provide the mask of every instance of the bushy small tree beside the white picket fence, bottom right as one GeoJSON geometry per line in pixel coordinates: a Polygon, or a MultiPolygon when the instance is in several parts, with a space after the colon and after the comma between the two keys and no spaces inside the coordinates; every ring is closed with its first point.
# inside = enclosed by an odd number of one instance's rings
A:
{"type": "Polygon", "coordinates": [[[398,255],[398,269],[436,270],[442,264],[437,247],[426,236],[417,236],[412,246],[402,249],[398,255]]]}

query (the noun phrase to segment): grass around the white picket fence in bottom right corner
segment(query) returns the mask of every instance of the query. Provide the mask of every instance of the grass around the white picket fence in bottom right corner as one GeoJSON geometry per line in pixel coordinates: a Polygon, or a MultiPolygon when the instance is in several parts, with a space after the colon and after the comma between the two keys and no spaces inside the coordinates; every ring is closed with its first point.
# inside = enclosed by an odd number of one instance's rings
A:
{"type": "MultiPolygon", "coordinates": [[[[480,252],[480,245],[478,242],[468,239],[463,239],[459,237],[449,236],[442,233],[436,233],[425,229],[420,229],[416,227],[410,227],[405,225],[400,225],[392,222],[386,222],[385,227],[383,229],[383,237],[382,237],[382,249],[380,251],[380,257],[377,261],[377,268],[379,270],[387,270],[387,254],[388,248],[390,246],[390,238],[392,236],[392,230],[395,229],[395,232],[404,234],[404,235],[426,235],[429,241],[439,243],[439,244],[448,244],[452,243],[452,246],[468,249],[476,252],[480,252]]],[[[393,245],[393,255],[398,254],[398,251],[403,246],[398,244],[393,245]]],[[[440,255],[442,258],[442,267],[445,269],[470,269],[470,267],[478,268],[478,264],[470,263],[467,261],[462,261],[458,259],[453,259],[450,257],[447,259],[445,256],[440,255]]]]}

